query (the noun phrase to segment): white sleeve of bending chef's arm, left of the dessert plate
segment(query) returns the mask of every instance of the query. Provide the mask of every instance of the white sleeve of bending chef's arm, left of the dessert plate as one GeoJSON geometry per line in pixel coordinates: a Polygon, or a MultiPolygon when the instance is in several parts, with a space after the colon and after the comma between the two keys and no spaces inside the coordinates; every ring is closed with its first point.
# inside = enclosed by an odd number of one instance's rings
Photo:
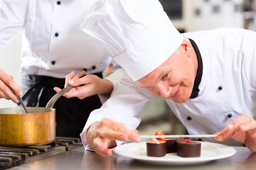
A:
{"type": "MultiPolygon", "coordinates": [[[[87,129],[94,122],[100,121],[103,118],[121,122],[130,130],[136,129],[141,121],[140,112],[150,97],[150,93],[145,88],[137,86],[127,73],[124,72],[124,77],[114,86],[110,99],[101,108],[92,111],[90,114],[81,133],[84,146],[87,145],[87,129]]],[[[117,144],[121,143],[121,141],[117,141],[117,144]]]]}

